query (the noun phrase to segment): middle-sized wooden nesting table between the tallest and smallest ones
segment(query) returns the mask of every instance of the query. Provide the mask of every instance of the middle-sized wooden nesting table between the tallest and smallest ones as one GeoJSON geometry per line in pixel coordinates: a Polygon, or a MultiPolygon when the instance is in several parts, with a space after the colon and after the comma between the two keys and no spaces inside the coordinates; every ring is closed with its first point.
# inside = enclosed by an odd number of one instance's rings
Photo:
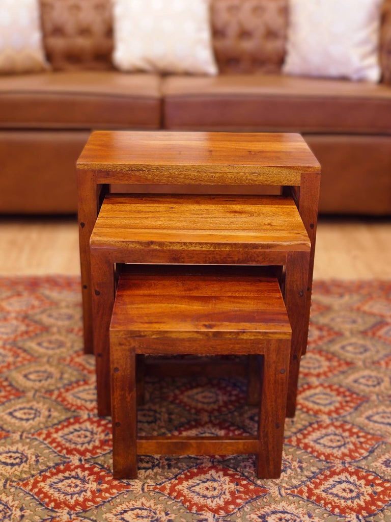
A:
{"type": "MultiPolygon", "coordinates": [[[[109,324],[115,264],[285,267],[292,327],[287,414],[296,407],[311,243],[291,197],[107,195],[90,240],[97,400],[110,413],[109,324]]],[[[202,350],[202,346],[199,346],[202,350]]]]}

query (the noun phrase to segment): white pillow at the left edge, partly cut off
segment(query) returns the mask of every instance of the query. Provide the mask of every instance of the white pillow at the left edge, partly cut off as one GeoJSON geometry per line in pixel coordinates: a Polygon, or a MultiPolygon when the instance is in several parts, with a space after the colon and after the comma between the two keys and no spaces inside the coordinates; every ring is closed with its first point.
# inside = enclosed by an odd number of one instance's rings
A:
{"type": "Polygon", "coordinates": [[[0,0],[0,73],[47,67],[38,0],[0,0]]]}

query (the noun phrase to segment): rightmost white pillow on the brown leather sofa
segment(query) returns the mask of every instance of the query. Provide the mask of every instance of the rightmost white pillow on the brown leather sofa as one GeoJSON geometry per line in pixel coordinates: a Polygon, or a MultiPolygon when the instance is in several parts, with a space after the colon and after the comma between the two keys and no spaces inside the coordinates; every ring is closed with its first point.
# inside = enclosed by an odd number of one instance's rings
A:
{"type": "Polygon", "coordinates": [[[382,0],[289,0],[283,72],[378,81],[382,0]]]}

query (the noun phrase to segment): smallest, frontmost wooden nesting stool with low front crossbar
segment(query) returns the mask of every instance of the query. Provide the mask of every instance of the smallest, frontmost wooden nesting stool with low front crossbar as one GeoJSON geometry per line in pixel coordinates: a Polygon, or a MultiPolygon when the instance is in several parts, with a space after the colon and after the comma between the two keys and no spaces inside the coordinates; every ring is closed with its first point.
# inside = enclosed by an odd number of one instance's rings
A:
{"type": "Polygon", "coordinates": [[[270,271],[130,267],[119,277],[110,325],[114,477],[136,478],[138,454],[253,453],[258,477],[278,478],[290,337],[279,284],[270,271]],[[194,353],[263,356],[256,436],[137,435],[137,354],[194,353]]]}

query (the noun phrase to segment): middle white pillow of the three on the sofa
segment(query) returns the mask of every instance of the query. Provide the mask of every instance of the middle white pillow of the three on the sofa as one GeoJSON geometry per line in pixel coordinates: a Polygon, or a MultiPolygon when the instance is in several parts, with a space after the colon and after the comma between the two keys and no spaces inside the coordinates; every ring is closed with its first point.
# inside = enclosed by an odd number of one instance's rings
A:
{"type": "Polygon", "coordinates": [[[114,0],[113,62],[124,71],[217,74],[209,0],[114,0]]]}

